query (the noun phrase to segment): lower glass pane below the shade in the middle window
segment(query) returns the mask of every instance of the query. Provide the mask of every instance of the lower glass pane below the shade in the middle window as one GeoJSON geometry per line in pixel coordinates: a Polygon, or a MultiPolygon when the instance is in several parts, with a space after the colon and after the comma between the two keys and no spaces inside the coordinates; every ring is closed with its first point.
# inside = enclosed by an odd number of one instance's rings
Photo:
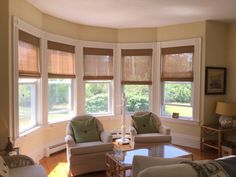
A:
{"type": "Polygon", "coordinates": [[[85,84],[85,112],[107,114],[109,110],[110,82],[87,82],[85,84]]]}

